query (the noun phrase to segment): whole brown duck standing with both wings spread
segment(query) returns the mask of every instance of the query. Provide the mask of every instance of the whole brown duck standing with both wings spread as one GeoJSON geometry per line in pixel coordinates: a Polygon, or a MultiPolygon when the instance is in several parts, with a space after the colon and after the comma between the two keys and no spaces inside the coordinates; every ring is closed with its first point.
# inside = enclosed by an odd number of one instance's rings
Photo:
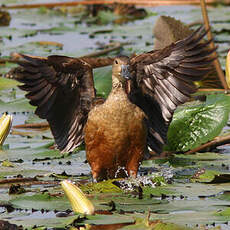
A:
{"type": "Polygon", "coordinates": [[[205,34],[199,28],[162,50],[116,58],[103,104],[92,65],[81,58],[21,55],[17,79],[35,113],[49,122],[58,149],[71,152],[85,137],[94,179],[125,171],[135,177],[147,147],[162,151],[175,109],[196,91],[193,81],[209,71],[214,50],[201,42],[205,34]]]}

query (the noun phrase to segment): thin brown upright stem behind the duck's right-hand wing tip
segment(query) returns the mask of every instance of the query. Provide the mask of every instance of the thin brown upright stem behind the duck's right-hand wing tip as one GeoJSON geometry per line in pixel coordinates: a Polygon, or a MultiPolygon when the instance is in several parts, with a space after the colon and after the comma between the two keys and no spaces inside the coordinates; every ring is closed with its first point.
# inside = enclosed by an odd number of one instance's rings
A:
{"type": "MultiPolygon", "coordinates": [[[[204,24],[205,24],[205,28],[206,30],[208,30],[208,33],[207,33],[207,36],[208,36],[208,39],[209,40],[212,40],[212,42],[210,43],[210,47],[211,49],[214,49],[215,48],[215,44],[213,42],[213,36],[212,36],[212,32],[211,30],[209,29],[210,28],[210,23],[209,23],[209,18],[208,18],[208,12],[207,12],[207,6],[206,6],[206,2],[205,0],[200,0],[200,5],[201,5],[201,10],[202,10],[202,15],[203,15],[203,20],[204,20],[204,24]]],[[[215,56],[218,56],[216,51],[213,52],[213,55],[215,56]]],[[[213,61],[213,64],[216,68],[216,72],[218,74],[218,77],[221,81],[221,84],[223,86],[223,88],[225,90],[228,89],[228,86],[227,86],[227,82],[225,80],[225,76],[224,76],[224,72],[221,68],[221,65],[220,65],[220,62],[219,62],[219,59],[216,58],[214,61],[213,61]]]]}

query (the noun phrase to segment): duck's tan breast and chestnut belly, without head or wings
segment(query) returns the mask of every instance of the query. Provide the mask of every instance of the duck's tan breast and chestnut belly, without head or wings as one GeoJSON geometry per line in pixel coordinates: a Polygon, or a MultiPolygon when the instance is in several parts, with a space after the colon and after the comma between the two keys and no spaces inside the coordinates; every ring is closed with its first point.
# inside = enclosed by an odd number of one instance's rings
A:
{"type": "Polygon", "coordinates": [[[95,179],[123,177],[125,171],[136,176],[146,147],[144,113],[122,89],[112,91],[89,113],[85,144],[95,179]]]}

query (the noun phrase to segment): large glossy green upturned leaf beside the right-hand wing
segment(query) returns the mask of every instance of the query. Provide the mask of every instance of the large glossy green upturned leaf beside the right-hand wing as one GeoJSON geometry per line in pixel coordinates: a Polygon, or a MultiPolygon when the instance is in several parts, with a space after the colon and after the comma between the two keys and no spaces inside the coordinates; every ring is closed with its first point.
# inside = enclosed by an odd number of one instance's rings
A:
{"type": "Polygon", "coordinates": [[[208,95],[205,103],[178,109],[168,131],[166,150],[188,151],[220,134],[227,124],[230,97],[208,95]]]}

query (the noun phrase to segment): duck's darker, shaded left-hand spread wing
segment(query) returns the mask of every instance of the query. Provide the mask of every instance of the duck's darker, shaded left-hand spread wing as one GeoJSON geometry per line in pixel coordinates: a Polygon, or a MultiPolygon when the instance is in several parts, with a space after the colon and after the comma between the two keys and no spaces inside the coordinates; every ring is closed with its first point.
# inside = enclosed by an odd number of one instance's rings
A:
{"type": "Polygon", "coordinates": [[[28,91],[35,113],[47,119],[58,149],[71,152],[83,141],[83,128],[95,99],[91,66],[78,58],[20,54],[16,79],[28,91]]]}

